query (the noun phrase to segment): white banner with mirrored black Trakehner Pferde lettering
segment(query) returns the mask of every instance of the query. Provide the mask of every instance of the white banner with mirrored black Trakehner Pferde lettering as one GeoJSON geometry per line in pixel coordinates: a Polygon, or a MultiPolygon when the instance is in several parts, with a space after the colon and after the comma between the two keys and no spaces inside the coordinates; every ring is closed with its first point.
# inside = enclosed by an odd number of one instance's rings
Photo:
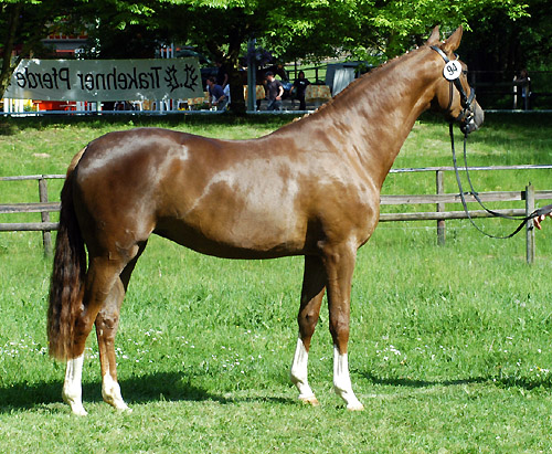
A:
{"type": "Polygon", "coordinates": [[[23,60],[3,97],[41,101],[203,96],[198,59],[23,60]]]}

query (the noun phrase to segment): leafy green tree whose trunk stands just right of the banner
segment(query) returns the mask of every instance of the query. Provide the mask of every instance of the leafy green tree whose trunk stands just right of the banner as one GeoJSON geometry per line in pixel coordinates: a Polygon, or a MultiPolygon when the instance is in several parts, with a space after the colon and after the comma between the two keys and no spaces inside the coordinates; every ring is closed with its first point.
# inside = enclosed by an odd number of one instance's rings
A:
{"type": "Polygon", "coordinates": [[[237,68],[250,38],[280,62],[346,54],[381,63],[424,42],[437,23],[444,32],[453,31],[489,8],[510,20],[524,14],[524,4],[516,0],[158,0],[149,4],[150,29],[169,41],[193,43],[226,65],[236,113],[245,112],[237,68]]]}

